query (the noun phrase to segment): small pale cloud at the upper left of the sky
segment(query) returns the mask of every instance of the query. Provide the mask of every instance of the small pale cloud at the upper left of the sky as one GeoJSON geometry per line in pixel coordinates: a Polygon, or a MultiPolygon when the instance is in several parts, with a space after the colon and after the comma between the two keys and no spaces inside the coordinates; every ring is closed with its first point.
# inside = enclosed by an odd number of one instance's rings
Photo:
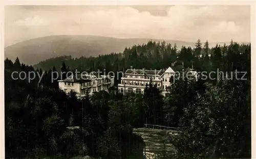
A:
{"type": "Polygon", "coordinates": [[[27,17],[25,19],[20,19],[15,21],[15,23],[19,26],[25,26],[25,27],[47,25],[47,21],[38,16],[32,16],[32,17],[27,17]]]}

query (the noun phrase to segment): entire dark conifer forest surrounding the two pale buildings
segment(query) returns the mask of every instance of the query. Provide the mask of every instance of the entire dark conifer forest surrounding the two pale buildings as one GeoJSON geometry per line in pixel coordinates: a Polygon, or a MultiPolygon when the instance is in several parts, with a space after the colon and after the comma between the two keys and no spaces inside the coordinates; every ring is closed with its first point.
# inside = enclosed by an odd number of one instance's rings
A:
{"type": "Polygon", "coordinates": [[[36,70],[18,58],[13,62],[6,59],[6,156],[141,157],[143,142],[132,130],[147,123],[180,131],[169,139],[177,153],[168,158],[250,158],[250,54],[250,44],[233,41],[209,49],[208,42],[198,40],[194,48],[182,47],[180,52],[170,44],[149,41],[125,48],[123,54],[49,59],[39,63],[36,70]],[[51,82],[51,72],[56,70],[115,72],[130,65],[162,69],[172,63],[175,71],[182,71],[183,63],[184,68],[193,66],[208,73],[218,69],[227,76],[171,81],[166,97],[150,84],[144,95],[123,96],[112,88],[110,93],[101,91],[77,99],[73,93],[66,95],[59,90],[56,80],[51,82]],[[42,70],[46,73],[40,83],[38,78],[29,82],[11,77],[13,71],[42,74],[42,70]],[[67,128],[74,126],[79,128],[67,128]]]}

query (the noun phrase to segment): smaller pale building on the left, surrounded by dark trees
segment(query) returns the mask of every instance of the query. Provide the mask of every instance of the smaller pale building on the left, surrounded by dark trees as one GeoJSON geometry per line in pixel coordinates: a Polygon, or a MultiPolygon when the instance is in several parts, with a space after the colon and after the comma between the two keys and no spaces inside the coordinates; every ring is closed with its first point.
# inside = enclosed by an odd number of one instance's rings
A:
{"type": "Polygon", "coordinates": [[[114,86],[114,76],[96,76],[96,75],[81,75],[77,77],[74,75],[69,76],[65,80],[58,81],[59,88],[65,93],[71,91],[76,92],[78,97],[83,97],[86,94],[92,95],[94,92],[105,90],[114,86]]]}

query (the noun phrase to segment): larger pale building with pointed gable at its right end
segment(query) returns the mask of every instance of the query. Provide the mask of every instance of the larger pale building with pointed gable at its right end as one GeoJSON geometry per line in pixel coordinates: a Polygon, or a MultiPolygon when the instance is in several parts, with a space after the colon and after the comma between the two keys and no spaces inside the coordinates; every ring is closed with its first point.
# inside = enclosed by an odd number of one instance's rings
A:
{"type": "Polygon", "coordinates": [[[121,83],[118,84],[118,92],[144,94],[144,88],[146,83],[157,85],[161,94],[165,96],[167,93],[167,87],[170,86],[170,78],[175,75],[175,72],[171,67],[166,70],[136,70],[128,69],[124,73],[124,77],[121,78],[121,83]]]}

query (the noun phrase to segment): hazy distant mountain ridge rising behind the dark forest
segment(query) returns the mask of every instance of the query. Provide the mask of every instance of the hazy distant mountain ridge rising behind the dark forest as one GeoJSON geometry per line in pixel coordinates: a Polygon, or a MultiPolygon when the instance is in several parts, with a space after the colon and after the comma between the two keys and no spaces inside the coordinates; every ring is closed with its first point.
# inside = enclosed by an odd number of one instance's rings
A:
{"type": "MultiPolygon", "coordinates": [[[[52,35],[34,38],[8,46],[5,48],[5,58],[15,60],[18,57],[23,63],[36,64],[40,61],[63,55],[71,55],[74,58],[79,58],[81,56],[98,56],[112,52],[122,53],[125,47],[129,48],[137,44],[146,44],[150,40],[162,42],[165,39],[122,39],[93,35],[52,35]]],[[[171,43],[172,46],[176,43],[178,48],[181,48],[181,46],[194,47],[196,43],[196,41],[186,42],[180,40],[165,40],[165,42],[171,43]]],[[[209,41],[209,47],[215,47],[216,43],[209,41]]],[[[222,45],[224,42],[218,42],[218,44],[222,45]]]]}

